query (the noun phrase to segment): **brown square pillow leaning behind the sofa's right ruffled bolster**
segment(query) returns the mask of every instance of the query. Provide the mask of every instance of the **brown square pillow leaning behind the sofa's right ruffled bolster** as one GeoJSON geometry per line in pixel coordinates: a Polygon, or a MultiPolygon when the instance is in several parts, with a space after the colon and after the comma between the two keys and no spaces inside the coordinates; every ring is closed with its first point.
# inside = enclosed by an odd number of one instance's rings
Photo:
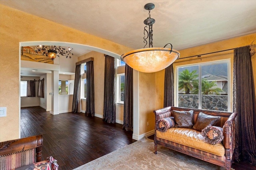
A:
{"type": "Polygon", "coordinates": [[[216,125],[219,119],[219,116],[207,115],[205,113],[200,112],[193,126],[193,129],[195,129],[196,131],[202,131],[202,129],[204,129],[208,125],[216,125]]]}

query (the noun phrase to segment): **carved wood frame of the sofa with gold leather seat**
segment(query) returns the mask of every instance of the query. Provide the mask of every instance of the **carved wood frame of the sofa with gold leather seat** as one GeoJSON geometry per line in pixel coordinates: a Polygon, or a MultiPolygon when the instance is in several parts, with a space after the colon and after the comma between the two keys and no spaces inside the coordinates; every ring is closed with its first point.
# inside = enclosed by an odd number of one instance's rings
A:
{"type": "MultiPolygon", "coordinates": [[[[193,109],[193,108],[186,108],[186,107],[165,107],[162,109],[158,109],[158,110],[154,110],[155,113],[155,123],[156,121],[158,121],[158,119],[160,119],[160,115],[162,115],[161,117],[170,117],[171,115],[171,111],[172,110],[177,110],[177,111],[190,111],[193,110],[194,113],[199,113],[199,112],[203,112],[206,113],[208,115],[214,115],[214,116],[221,116],[224,117],[224,119],[226,119],[226,121],[224,122],[218,122],[219,127],[223,127],[223,135],[224,135],[224,140],[223,140],[223,146],[225,149],[225,161],[221,161],[221,160],[217,160],[214,158],[211,158],[209,156],[205,156],[203,154],[197,153],[197,152],[193,152],[189,149],[185,149],[178,147],[177,143],[171,142],[171,141],[167,141],[167,140],[162,140],[158,137],[156,137],[156,126],[155,126],[155,135],[154,135],[154,144],[155,144],[155,154],[157,154],[157,145],[162,145],[164,147],[167,147],[169,149],[173,149],[176,150],[178,152],[182,152],[184,154],[193,156],[195,158],[204,160],[206,162],[210,162],[212,164],[216,164],[218,166],[222,166],[224,168],[226,168],[227,170],[231,169],[231,164],[232,164],[232,154],[233,154],[233,150],[234,150],[234,145],[235,145],[235,138],[234,138],[234,119],[236,118],[237,113],[232,113],[232,112],[226,112],[226,111],[214,111],[214,110],[205,110],[205,109],[193,109]],[[169,112],[169,113],[168,113],[169,112]],[[168,115],[169,114],[169,115],[168,115]],[[231,134],[230,134],[231,133],[231,134]],[[230,145],[230,143],[232,143],[232,145],[230,145]],[[231,148],[232,147],[232,148],[231,148]]],[[[183,145],[182,145],[183,146],[183,145]]]]}

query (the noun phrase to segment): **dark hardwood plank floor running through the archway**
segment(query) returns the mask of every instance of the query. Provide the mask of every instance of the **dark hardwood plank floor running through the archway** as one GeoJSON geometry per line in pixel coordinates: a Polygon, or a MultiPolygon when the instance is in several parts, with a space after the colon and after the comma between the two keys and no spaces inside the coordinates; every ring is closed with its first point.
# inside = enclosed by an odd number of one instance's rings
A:
{"type": "MultiPolygon", "coordinates": [[[[23,107],[20,112],[21,137],[43,134],[42,159],[53,156],[59,170],[72,170],[136,141],[122,125],[83,113],[51,115],[39,106],[23,107]]],[[[148,138],[154,140],[154,135],[148,138]]],[[[232,168],[256,170],[245,162],[235,162],[232,168]]]]}

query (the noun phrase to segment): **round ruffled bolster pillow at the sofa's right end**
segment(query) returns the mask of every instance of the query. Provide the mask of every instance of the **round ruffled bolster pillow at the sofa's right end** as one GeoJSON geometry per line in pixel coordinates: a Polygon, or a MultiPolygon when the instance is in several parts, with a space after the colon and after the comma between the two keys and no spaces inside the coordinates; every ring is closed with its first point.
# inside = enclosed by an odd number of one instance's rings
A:
{"type": "Polygon", "coordinates": [[[207,143],[212,145],[221,143],[224,139],[222,128],[212,125],[208,125],[202,130],[202,136],[207,143]]]}

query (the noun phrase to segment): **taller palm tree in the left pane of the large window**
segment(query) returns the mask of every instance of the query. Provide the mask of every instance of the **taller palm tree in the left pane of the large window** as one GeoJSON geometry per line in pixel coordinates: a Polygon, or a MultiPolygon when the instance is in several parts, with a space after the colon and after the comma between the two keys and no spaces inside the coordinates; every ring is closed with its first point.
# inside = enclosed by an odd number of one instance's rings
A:
{"type": "Polygon", "coordinates": [[[186,94],[190,94],[193,89],[193,84],[198,82],[197,70],[190,72],[188,69],[179,72],[179,90],[184,89],[186,94]]]}

